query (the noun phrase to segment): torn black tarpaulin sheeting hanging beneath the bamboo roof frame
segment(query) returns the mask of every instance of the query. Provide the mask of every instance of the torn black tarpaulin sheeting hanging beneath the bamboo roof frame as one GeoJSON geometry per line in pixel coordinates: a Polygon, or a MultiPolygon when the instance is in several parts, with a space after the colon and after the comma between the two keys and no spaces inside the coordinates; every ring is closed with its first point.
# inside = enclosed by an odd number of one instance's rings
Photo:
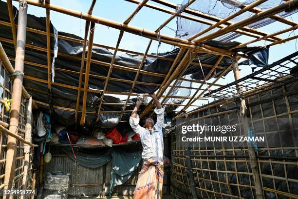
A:
{"type": "MultiPolygon", "coordinates": [[[[6,3],[0,1],[0,7],[7,7],[6,3]]],[[[17,13],[16,7],[13,8],[14,13],[17,13]]],[[[7,9],[2,9],[0,12],[0,20],[10,22],[7,9]]],[[[18,16],[15,17],[15,23],[18,24],[18,16]]],[[[40,31],[46,31],[46,18],[38,18],[36,16],[28,14],[27,27],[37,29],[40,31]]],[[[51,33],[54,33],[54,26],[51,24],[51,33]]],[[[75,35],[58,32],[58,36],[65,36],[76,40],[83,40],[75,35]]],[[[13,41],[11,27],[1,24],[0,25],[0,40],[3,48],[9,58],[15,58],[15,49],[13,42],[7,42],[7,40],[13,41]],[[3,38],[3,39],[1,39],[3,38]]],[[[79,73],[81,65],[81,57],[83,44],[81,42],[75,42],[70,40],[61,39],[58,37],[58,56],[55,59],[55,84],[52,84],[52,101],[49,102],[48,98],[48,72],[47,72],[47,53],[46,53],[46,35],[38,34],[37,32],[27,31],[26,43],[30,44],[26,46],[25,52],[25,64],[24,64],[24,80],[23,84],[28,93],[32,95],[34,100],[43,103],[37,103],[37,105],[47,111],[49,107],[45,104],[51,104],[56,106],[53,115],[57,118],[63,119],[67,123],[74,122],[75,104],[77,100],[77,86],[79,84],[79,73]],[[36,46],[36,47],[34,47],[36,46]],[[43,50],[40,50],[43,49],[43,50]],[[61,109],[57,107],[64,107],[61,109]],[[69,120],[72,119],[72,120],[69,120]]],[[[239,44],[238,42],[219,42],[208,41],[206,45],[229,49],[231,46],[239,44]]],[[[55,40],[51,39],[51,50],[55,49],[55,40]]],[[[243,47],[233,50],[234,52],[247,52],[257,49],[257,47],[243,47]]],[[[147,57],[142,66],[142,71],[139,74],[137,83],[135,84],[132,93],[154,93],[164,81],[166,74],[172,65],[172,61],[176,58],[178,49],[174,49],[171,52],[160,53],[160,57],[147,57]],[[163,57],[163,58],[161,58],[163,57]],[[147,72],[153,72],[153,74],[147,74],[147,72]]],[[[106,48],[93,46],[92,61],[90,66],[90,77],[88,81],[88,88],[91,90],[88,92],[88,99],[86,104],[87,112],[86,123],[88,125],[94,125],[94,119],[96,115],[96,107],[98,107],[98,99],[100,99],[100,91],[104,88],[104,82],[109,72],[110,63],[113,54],[106,48]],[[92,92],[93,91],[93,92],[92,92]]],[[[204,73],[207,74],[220,56],[198,54],[198,57],[202,64],[208,64],[208,67],[203,67],[204,73]],[[211,67],[210,67],[211,66],[211,67]]],[[[53,55],[52,55],[53,58],[53,55]]],[[[142,61],[143,56],[124,54],[115,56],[114,67],[110,76],[109,83],[106,90],[109,92],[130,92],[132,82],[135,78],[137,69],[142,61]],[[124,70],[127,67],[128,70],[124,70]],[[124,81],[125,80],[125,81],[124,81]]],[[[198,65],[198,58],[193,60],[196,64],[188,66],[184,75],[192,75],[195,80],[203,80],[202,70],[198,65]]],[[[12,64],[14,62],[12,61],[12,64]]],[[[215,76],[218,77],[221,72],[231,64],[229,57],[224,57],[219,63],[222,68],[216,69],[215,76]]],[[[212,77],[212,76],[211,76],[212,77]]],[[[84,77],[83,77],[84,82],[84,77]]],[[[83,95],[81,95],[82,97],[83,95]]],[[[82,102],[82,99],[80,99],[82,102]]],[[[104,106],[102,106],[104,107],[104,106]]],[[[79,110],[82,108],[82,103],[79,104],[79,110]]],[[[108,106],[104,107],[105,110],[121,111],[118,109],[122,106],[108,106]]],[[[78,114],[78,120],[80,120],[80,112],[78,114]]]]}

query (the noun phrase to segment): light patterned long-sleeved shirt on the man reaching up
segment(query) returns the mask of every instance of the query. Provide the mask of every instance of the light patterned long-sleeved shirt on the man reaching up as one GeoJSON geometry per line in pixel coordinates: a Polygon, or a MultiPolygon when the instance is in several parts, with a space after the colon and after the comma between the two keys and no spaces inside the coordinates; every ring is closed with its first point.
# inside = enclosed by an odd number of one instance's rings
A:
{"type": "Polygon", "coordinates": [[[156,158],[158,161],[163,161],[164,155],[164,139],[163,139],[163,125],[164,125],[164,108],[154,109],[157,114],[157,120],[155,125],[150,131],[147,128],[143,128],[139,125],[140,117],[130,117],[130,126],[138,136],[141,138],[143,152],[143,159],[156,158]]]}

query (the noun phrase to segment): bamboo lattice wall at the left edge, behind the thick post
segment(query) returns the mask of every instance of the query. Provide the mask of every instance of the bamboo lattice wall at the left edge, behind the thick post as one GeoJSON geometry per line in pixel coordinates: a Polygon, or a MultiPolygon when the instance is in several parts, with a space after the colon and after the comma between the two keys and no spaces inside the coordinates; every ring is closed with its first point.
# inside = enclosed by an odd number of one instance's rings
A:
{"type": "MultiPolygon", "coordinates": [[[[5,69],[2,61],[0,61],[0,79],[3,78],[3,84],[0,80],[0,89],[3,89],[2,99],[5,97],[11,99],[12,95],[12,79],[5,69]]],[[[9,115],[10,112],[5,110],[3,101],[0,101],[1,113],[0,120],[1,125],[5,126],[8,129],[9,126],[9,115]]],[[[25,139],[25,117],[26,117],[26,98],[22,95],[21,106],[20,106],[20,115],[19,115],[19,131],[18,135],[25,139]]],[[[7,135],[0,132],[0,189],[4,187],[4,173],[5,173],[5,159],[6,159],[6,147],[7,147],[7,135]]],[[[29,176],[27,176],[27,187],[22,187],[22,178],[24,176],[24,144],[21,141],[17,141],[17,150],[16,150],[16,170],[15,170],[15,189],[31,189],[31,177],[32,177],[32,157],[33,150],[30,148],[30,162],[29,162],[29,176]]],[[[24,198],[29,198],[29,195],[26,195],[24,198]]],[[[20,198],[16,196],[15,198],[20,198]]]]}

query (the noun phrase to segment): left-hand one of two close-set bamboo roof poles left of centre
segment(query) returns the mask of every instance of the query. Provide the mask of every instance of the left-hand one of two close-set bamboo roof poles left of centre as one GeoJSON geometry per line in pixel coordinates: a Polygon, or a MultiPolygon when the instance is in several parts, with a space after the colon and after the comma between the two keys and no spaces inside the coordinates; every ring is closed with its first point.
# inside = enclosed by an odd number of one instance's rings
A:
{"type": "MultiPolygon", "coordinates": [[[[92,1],[92,4],[88,10],[88,14],[92,15],[92,11],[94,8],[96,0],[92,1]]],[[[85,64],[85,55],[86,55],[86,45],[87,45],[87,38],[88,38],[88,31],[90,27],[90,21],[85,21],[85,36],[84,36],[84,43],[83,43],[83,51],[82,51],[82,61],[81,61],[81,69],[80,69],[80,76],[79,76],[79,84],[78,87],[82,87],[82,79],[83,79],[83,73],[84,73],[84,64],[85,64]]],[[[80,106],[80,100],[81,100],[81,91],[80,89],[77,90],[77,99],[76,99],[76,105],[75,105],[75,123],[77,122],[77,115],[78,115],[78,109],[80,106]]]]}

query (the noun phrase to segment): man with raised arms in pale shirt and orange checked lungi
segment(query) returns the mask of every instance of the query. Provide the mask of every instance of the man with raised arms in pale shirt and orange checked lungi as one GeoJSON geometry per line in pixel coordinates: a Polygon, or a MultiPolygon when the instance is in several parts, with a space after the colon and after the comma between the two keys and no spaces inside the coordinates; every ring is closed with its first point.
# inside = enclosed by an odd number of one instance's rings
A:
{"type": "Polygon", "coordinates": [[[161,199],[163,178],[164,178],[164,108],[157,100],[155,94],[149,95],[155,102],[156,108],[154,112],[157,114],[156,124],[152,118],[147,118],[145,125],[139,125],[139,115],[137,111],[142,103],[142,99],[137,100],[136,105],[130,116],[130,126],[140,136],[144,160],[142,170],[140,172],[133,199],[161,199]]]}

